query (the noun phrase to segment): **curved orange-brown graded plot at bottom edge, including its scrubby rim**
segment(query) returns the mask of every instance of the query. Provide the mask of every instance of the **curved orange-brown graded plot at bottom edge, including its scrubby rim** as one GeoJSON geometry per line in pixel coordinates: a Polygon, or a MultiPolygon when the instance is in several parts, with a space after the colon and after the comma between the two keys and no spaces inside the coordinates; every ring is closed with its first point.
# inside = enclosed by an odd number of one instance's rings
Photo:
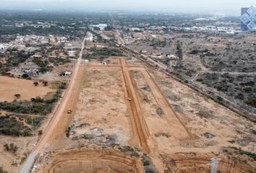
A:
{"type": "Polygon", "coordinates": [[[88,145],[57,154],[51,153],[51,157],[42,158],[51,164],[39,172],[140,173],[144,172],[142,161],[147,158],[145,154],[129,146],[88,145]]]}

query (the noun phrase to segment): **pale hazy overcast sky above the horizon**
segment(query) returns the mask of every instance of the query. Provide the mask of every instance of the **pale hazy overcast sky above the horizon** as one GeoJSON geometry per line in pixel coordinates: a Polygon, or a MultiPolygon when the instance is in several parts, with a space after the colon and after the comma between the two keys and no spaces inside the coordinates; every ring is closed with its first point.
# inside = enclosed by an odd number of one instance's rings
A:
{"type": "Polygon", "coordinates": [[[0,0],[0,9],[65,11],[223,12],[239,14],[256,0],[0,0]]]}

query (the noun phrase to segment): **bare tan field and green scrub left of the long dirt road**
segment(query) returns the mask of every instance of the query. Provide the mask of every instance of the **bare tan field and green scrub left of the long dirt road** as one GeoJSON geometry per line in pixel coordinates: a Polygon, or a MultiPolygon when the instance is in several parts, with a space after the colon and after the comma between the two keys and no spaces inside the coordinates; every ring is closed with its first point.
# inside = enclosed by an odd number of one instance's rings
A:
{"type": "MultiPolygon", "coordinates": [[[[35,86],[33,80],[7,76],[0,76],[0,82],[0,167],[9,173],[19,172],[33,144],[42,135],[39,125],[53,110],[58,97],[56,89],[49,87],[54,88],[54,84],[43,86],[38,82],[35,86]],[[20,98],[14,94],[20,94],[20,98]],[[35,138],[32,137],[32,118],[35,138]],[[6,146],[17,148],[14,152],[7,150],[6,146]]],[[[64,89],[66,83],[60,82],[59,86],[59,89],[64,89]]]]}

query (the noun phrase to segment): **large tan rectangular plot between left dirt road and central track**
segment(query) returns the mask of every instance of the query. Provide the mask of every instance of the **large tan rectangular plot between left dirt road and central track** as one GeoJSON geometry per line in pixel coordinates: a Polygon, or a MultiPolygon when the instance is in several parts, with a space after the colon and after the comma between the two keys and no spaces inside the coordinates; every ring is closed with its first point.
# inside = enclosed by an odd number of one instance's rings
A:
{"type": "Polygon", "coordinates": [[[80,93],[71,138],[127,145],[132,134],[121,68],[88,68],[86,76],[88,84],[80,93]]]}

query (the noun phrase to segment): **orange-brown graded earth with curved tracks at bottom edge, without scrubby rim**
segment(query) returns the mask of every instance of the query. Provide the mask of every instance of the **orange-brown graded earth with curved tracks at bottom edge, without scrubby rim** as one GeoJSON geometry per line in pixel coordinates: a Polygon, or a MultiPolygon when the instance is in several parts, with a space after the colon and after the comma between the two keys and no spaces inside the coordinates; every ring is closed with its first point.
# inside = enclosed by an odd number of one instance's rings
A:
{"type": "Polygon", "coordinates": [[[43,172],[144,172],[141,161],[115,150],[71,150],[56,154],[43,172]]]}

